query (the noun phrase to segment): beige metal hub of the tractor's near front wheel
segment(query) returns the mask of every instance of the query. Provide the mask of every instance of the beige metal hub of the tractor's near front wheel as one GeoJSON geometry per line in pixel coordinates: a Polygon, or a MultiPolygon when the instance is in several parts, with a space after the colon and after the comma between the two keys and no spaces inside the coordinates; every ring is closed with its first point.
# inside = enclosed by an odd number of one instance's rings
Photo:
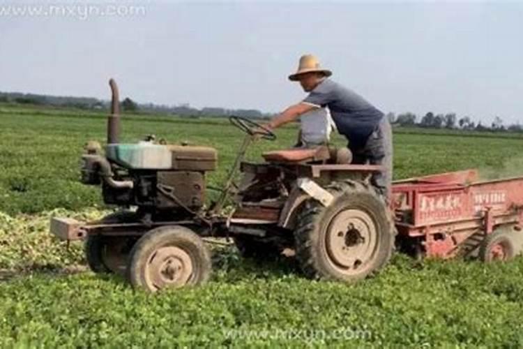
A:
{"type": "Polygon", "coordinates": [[[146,278],[154,288],[181,287],[192,276],[192,260],[183,249],[174,246],[158,248],[147,264],[146,278]]]}

